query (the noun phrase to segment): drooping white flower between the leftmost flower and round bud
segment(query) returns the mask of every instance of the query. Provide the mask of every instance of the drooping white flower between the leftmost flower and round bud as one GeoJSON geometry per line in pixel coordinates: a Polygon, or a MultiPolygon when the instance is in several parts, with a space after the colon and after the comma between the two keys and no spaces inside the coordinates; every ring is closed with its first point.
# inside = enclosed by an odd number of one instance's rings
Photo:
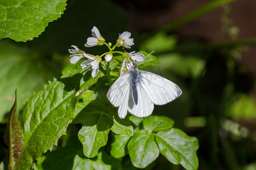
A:
{"type": "Polygon", "coordinates": [[[82,69],[86,70],[92,67],[92,77],[96,77],[98,74],[98,65],[101,62],[100,56],[89,56],[84,53],[84,57],[88,58],[81,63],[82,69]]]}

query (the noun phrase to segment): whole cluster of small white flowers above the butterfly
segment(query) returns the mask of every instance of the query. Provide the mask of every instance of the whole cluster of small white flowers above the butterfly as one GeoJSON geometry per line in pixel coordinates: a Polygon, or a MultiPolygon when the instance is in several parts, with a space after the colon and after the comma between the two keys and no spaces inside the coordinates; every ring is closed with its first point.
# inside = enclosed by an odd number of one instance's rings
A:
{"type": "MultiPolygon", "coordinates": [[[[133,67],[133,61],[143,61],[144,55],[141,53],[135,53],[135,52],[119,52],[114,51],[115,47],[123,46],[124,48],[131,48],[132,45],[134,45],[133,39],[130,38],[131,33],[128,31],[125,31],[121,34],[119,34],[116,44],[112,46],[112,43],[109,42],[108,44],[105,42],[104,37],[101,36],[100,31],[98,31],[97,27],[92,28],[92,37],[89,37],[85,43],[86,47],[92,47],[96,45],[106,45],[108,46],[109,52],[106,52],[104,54],[101,54],[101,56],[94,56],[92,54],[85,53],[83,50],[80,50],[77,48],[77,46],[72,45],[71,47],[73,49],[69,49],[68,52],[70,55],[70,62],[72,64],[77,63],[80,59],[84,59],[84,61],[81,62],[82,69],[86,70],[91,68],[92,69],[92,76],[95,77],[98,74],[98,69],[100,66],[100,63],[102,65],[105,65],[105,63],[110,62],[112,59],[114,59],[113,54],[118,53],[122,54],[123,61],[121,66],[121,71],[124,70],[131,70],[133,67]],[[102,57],[104,57],[105,62],[102,62],[102,57]]],[[[120,72],[121,73],[121,72],[120,72]]]]}

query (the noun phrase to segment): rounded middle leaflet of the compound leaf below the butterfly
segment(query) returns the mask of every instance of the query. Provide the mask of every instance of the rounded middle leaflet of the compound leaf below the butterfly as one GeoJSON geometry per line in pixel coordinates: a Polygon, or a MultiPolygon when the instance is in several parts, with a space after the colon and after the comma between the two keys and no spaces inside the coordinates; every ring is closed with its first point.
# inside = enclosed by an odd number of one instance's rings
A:
{"type": "Polygon", "coordinates": [[[154,135],[146,130],[140,130],[131,138],[128,144],[131,163],[137,168],[145,168],[159,156],[154,135]]]}

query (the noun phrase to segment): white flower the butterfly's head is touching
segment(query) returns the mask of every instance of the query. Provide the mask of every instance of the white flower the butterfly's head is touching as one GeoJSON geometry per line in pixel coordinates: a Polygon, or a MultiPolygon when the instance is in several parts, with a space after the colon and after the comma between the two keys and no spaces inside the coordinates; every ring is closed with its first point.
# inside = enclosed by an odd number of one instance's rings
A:
{"type": "MultiPolygon", "coordinates": [[[[124,53],[127,54],[127,53],[124,53]]],[[[123,63],[121,66],[121,71],[123,70],[123,67],[127,67],[128,70],[131,70],[131,68],[133,67],[133,62],[132,59],[134,61],[144,61],[144,55],[141,53],[135,53],[135,52],[130,52],[125,56],[125,59],[123,59],[123,63]],[[134,54],[133,54],[134,53],[134,54]]]]}

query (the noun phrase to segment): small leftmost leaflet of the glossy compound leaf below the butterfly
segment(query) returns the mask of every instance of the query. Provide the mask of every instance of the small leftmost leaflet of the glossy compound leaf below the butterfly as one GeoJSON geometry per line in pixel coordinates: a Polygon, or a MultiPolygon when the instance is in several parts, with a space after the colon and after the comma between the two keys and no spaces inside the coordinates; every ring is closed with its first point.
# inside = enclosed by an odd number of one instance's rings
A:
{"type": "Polygon", "coordinates": [[[122,158],[127,155],[127,145],[130,138],[125,135],[114,135],[114,142],[111,144],[110,154],[114,158],[122,158]]]}

